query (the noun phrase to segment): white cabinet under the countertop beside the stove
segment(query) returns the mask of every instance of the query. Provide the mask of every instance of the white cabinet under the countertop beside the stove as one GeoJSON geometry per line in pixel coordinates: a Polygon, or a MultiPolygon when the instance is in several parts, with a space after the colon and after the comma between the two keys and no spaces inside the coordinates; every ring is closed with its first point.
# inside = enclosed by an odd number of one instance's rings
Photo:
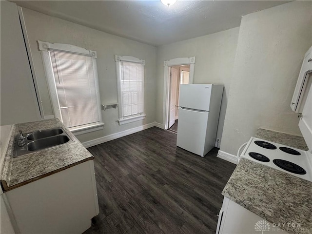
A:
{"type": "Polygon", "coordinates": [[[216,234],[288,234],[285,230],[224,197],[216,234]]]}

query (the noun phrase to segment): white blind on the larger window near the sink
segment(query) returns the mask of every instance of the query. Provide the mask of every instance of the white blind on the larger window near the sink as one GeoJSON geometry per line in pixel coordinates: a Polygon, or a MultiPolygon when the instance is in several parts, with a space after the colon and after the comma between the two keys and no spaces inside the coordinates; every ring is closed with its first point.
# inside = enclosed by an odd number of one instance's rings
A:
{"type": "Polygon", "coordinates": [[[50,57],[64,125],[98,123],[98,84],[92,57],[62,51],[50,51],[50,57]]]}

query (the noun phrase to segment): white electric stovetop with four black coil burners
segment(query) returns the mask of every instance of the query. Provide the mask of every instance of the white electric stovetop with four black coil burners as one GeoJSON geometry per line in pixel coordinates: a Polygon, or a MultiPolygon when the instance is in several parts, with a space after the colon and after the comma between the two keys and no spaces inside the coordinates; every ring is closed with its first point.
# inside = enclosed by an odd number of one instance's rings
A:
{"type": "Polygon", "coordinates": [[[303,150],[252,137],[240,158],[312,181],[312,158],[303,150]]]}

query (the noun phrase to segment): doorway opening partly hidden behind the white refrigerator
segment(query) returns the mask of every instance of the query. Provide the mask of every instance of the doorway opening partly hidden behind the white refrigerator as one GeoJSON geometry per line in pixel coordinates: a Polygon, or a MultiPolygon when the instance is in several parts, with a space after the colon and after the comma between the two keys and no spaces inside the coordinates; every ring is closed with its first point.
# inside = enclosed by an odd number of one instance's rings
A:
{"type": "Polygon", "coordinates": [[[168,129],[177,133],[179,117],[180,85],[188,84],[190,79],[190,65],[170,66],[170,87],[169,87],[169,116],[168,129]]]}

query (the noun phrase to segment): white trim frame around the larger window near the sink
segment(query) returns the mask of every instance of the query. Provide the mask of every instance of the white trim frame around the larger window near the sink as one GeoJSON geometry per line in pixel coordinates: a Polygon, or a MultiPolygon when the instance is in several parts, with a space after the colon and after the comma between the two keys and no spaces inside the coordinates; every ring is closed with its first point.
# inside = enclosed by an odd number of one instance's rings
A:
{"type": "MultiPolygon", "coordinates": [[[[49,42],[40,41],[40,40],[38,40],[37,42],[38,42],[38,46],[39,46],[39,51],[41,52],[45,77],[46,77],[47,83],[48,83],[48,90],[49,90],[49,94],[50,94],[50,100],[51,100],[51,104],[52,104],[53,113],[54,113],[55,117],[59,118],[59,120],[62,122],[63,122],[63,119],[62,119],[62,115],[61,115],[61,111],[60,111],[60,107],[59,107],[59,97],[58,97],[57,86],[56,86],[55,78],[54,78],[54,74],[53,74],[50,50],[70,52],[70,53],[75,53],[75,54],[80,54],[80,55],[92,57],[94,77],[95,77],[95,83],[96,83],[96,93],[97,93],[97,99],[98,99],[99,122],[96,122],[96,123],[89,125],[87,127],[85,127],[84,125],[81,125],[81,126],[76,126],[73,128],[68,128],[68,129],[77,133],[76,135],[79,135],[79,130],[81,130],[81,131],[86,131],[86,129],[99,130],[98,128],[95,128],[95,127],[100,127],[100,126],[103,128],[104,124],[103,124],[102,115],[101,115],[102,109],[101,109],[101,101],[100,101],[100,96],[99,96],[97,52],[92,51],[92,50],[87,50],[84,48],[80,48],[78,46],[70,45],[70,44],[49,43],[49,42]],[[78,128],[78,127],[80,127],[80,128],[78,128]]],[[[96,131],[96,130],[94,130],[94,131],[96,131]]],[[[80,133],[80,134],[83,134],[83,133],[80,133]]]]}

